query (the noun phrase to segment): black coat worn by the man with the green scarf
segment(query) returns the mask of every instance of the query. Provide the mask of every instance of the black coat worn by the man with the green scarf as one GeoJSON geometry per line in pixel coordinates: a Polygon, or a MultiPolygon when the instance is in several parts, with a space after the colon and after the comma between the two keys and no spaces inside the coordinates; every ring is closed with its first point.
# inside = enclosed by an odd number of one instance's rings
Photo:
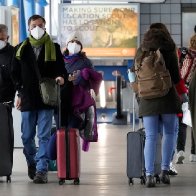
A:
{"type": "MultiPolygon", "coordinates": [[[[15,47],[15,56],[19,46],[15,47]]],[[[35,71],[35,65],[38,65],[41,77],[55,79],[58,76],[64,76],[65,78],[67,78],[67,72],[64,68],[64,61],[60,46],[55,43],[55,48],[56,61],[44,61],[45,47],[42,47],[38,56],[38,60],[36,61],[33,48],[29,42],[24,46],[21,60],[18,60],[16,57],[13,58],[12,76],[16,84],[16,89],[18,90],[19,96],[21,97],[21,111],[52,108],[42,102],[39,90],[39,80],[35,71]]]]}

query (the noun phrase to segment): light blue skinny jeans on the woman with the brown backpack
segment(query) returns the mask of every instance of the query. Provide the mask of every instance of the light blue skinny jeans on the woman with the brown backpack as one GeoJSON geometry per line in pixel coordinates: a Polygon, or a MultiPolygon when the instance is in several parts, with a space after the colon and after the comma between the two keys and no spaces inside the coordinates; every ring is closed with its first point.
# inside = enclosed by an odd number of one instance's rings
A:
{"type": "Polygon", "coordinates": [[[160,131],[160,126],[162,127],[163,131],[161,169],[169,170],[169,165],[173,155],[176,139],[176,114],[144,116],[143,123],[146,132],[144,148],[146,175],[154,175],[156,143],[158,132],[160,131]]]}

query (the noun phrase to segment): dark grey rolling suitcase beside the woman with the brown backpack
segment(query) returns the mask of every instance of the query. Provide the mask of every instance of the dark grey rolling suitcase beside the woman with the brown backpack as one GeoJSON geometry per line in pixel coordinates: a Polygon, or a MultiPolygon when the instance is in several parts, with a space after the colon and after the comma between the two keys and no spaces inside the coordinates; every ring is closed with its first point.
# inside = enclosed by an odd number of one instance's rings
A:
{"type": "MultiPolygon", "coordinates": [[[[135,94],[133,96],[133,131],[127,133],[127,177],[129,185],[133,184],[133,178],[139,178],[141,184],[146,184],[145,165],[144,165],[144,144],[145,131],[140,128],[135,131],[135,94]]],[[[155,178],[160,183],[159,174],[161,173],[161,135],[158,135],[156,159],[155,159],[155,178]]]]}

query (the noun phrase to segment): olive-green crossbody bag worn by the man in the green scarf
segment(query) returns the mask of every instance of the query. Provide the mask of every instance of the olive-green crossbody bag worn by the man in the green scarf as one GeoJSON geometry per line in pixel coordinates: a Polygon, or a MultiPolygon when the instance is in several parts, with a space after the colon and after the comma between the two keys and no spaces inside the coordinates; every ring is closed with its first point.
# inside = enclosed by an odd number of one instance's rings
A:
{"type": "Polygon", "coordinates": [[[53,78],[41,78],[37,64],[35,71],[39,79],[40,94],[44,104],[58,106],[58,84],[53,78]]]}

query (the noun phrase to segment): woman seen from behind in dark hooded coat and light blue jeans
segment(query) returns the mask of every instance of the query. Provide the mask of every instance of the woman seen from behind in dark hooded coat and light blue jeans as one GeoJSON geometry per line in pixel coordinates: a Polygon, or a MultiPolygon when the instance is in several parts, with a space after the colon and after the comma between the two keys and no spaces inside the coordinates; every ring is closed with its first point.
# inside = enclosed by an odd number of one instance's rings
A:
{"type": "Polygon", "coordinates": [[[135,65],[137,65],[142,62],[144,52],[160,49],[173,83],[169,92],[163,97],[139,98],[139,116],[143,118],[146,133],[144,156],[147,187],[155,186],[154,162],[160,126],[163,131],[161,181],[164,184],[170,184],[169,169],[176,138],[176,114],[181,112],[180,99],[174,86],[180,81],[176,46],[171,36],[163,30],[163,27],[166,28],[162,23],[154,23],[150,26],[150,29],[144,34],[141,47],[135,57],[135,65]]]}

